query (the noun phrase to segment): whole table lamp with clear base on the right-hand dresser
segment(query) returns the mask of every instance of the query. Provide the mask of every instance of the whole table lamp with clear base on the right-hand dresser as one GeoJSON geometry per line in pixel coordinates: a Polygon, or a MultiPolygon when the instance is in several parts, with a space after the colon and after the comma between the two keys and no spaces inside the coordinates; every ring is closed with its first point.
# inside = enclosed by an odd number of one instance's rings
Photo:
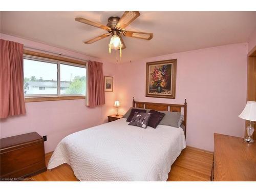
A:
{"type": "Polygon", "coordinates": [[[247,101],[244,111],[239,115],[240,118],[250,121],[249,126],[246,127],[248,137],[244,138],[245,141],[253,143],[251,135],[254,132],[253,121],[256,121],[256,102],[247,101]]]}

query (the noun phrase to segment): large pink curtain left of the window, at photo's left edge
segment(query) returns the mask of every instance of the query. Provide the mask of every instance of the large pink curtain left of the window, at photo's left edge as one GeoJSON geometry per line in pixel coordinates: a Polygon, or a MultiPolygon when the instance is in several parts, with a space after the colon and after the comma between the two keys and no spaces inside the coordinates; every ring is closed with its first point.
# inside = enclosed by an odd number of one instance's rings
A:
{"type": "Polygon", "coordinates": [[[25,114],[23,45],[0,39],[0,118],[25,114]]]}

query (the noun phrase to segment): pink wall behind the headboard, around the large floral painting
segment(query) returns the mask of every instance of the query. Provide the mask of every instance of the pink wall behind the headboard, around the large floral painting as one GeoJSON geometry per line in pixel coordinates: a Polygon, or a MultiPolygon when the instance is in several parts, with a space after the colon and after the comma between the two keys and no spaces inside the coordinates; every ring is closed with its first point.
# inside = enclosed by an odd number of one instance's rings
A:
{"type": "Polygon", "coordinates": [[[137,101],[188,103],[187,145],[214,150],[213,133],[244,134],[248,44],[234,44],[123,63],[117,98],[124,113],[137,101]],[[146,98],[146,62],[177,59],[176,99],[146,98]]]}

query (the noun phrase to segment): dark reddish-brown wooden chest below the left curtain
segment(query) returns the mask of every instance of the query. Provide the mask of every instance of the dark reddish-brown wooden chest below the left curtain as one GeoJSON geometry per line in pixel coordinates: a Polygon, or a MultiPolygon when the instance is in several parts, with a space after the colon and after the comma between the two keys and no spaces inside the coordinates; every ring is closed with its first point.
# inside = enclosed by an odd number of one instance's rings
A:
{"type": "Polygon", "coordinates": [[[36,132],[1,139],[0,165],[2,181],[45,172],[44,139],[36,132]]]}

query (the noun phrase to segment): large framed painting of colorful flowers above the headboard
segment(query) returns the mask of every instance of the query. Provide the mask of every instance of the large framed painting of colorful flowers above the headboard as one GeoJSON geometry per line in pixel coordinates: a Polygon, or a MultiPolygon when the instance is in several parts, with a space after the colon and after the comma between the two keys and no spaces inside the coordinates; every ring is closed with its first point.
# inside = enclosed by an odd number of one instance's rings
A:
{"type": "Polygon", "coordinates": [[[146,63],[146,97],[175,99],[177,59],[146,63]]]}

